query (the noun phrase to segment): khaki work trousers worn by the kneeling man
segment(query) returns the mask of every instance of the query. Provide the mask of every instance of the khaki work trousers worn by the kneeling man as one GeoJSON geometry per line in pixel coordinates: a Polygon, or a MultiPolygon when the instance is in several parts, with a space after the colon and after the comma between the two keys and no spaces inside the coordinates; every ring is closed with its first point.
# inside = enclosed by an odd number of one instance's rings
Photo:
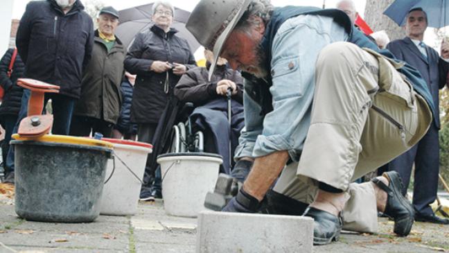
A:
{"type": "Polygon", "coordinates": [[[432,122],[427,103],[396,71],[400,67],[355,44],[326,46],[316,63],[301,158],[283,169],[274,191],[310,204],[318,182],[342,189],[349,198],[344,229],[377,232],[373,184],[351,182],[414,146],[432,122]]]}

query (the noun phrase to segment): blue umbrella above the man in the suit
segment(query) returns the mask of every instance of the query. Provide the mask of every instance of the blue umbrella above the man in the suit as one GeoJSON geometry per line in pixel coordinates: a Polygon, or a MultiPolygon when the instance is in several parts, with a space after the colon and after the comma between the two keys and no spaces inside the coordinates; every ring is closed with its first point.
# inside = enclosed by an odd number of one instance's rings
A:
{"type": "Polygon", "coordinates": [[[396,0],[384,14],[399,26],[405,24],[405,17],[414,8],[422,8],[428,16],[428,26],[441,28],[449,25],[449,0],[396,0]]]}

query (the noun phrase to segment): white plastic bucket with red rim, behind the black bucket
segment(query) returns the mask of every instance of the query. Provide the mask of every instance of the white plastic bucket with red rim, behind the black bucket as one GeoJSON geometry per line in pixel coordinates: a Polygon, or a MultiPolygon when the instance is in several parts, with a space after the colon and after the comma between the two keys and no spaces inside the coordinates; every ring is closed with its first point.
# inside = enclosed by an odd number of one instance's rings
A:
{"type": "Polygon", "coordinates": [[[100,214],[134,215],[139,203],[141,180],[145,173],[147,156],[152,149],[143,146],[112,144],[114,145],[114,162],[112,159],[107,162],[106,178],[111,173],[112,176],[103,187],[100,214]]]}

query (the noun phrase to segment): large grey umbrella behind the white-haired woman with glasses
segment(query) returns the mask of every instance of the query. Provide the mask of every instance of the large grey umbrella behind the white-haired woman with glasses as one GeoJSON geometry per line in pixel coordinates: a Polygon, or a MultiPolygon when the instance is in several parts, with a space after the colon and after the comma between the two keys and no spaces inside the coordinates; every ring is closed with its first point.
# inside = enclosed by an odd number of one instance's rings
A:
{"type": "MultiPolygon", "coordinates": [[[[153,3],[149,3],[144,6],[137,6],[118,12],[120,24],[116,28],[116,35],[126,47],[131,44],[137,33],[148,29],[152,25],[152,6],[153,3]]],[[[186,22],[189,15],[190,12],[175,7],[175,18],[171,27],[179,30],[177,35],[186,39],[188,45],[191,47],[191,51],[195,53],[200,47],[200,43],[186,29],[186,22]]]]}

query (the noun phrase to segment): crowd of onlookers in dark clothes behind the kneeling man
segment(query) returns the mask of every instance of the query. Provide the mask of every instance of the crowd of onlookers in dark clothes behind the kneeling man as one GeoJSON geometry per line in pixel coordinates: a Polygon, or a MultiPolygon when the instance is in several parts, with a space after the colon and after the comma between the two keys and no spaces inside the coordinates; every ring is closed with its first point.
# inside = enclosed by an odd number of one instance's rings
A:
{"type": "MultiPolygon", "coordinates": [[[[351,21],[355,20],[357,12],[353,1],[339,1],[337,8],[344,10],[351,21]]],[[[240,72],[230,69],[227,60],[218,58],[218,67],[209,80],[209,64],[197,67],[188,42],[177,36],[177,30],[172,27],[175,8],[170,3],[154,3],[151,13],[154,24],[138,33],[129,48],[114,33],[120,21],[117,10],[110,6],[101,9],[96,19],[98,28],[94,30],[91,17],[83,9],[80,0],[30,1],[17,30],[17,49],[8,49],[1,58],[0,84],[5,95],[0,105],[0,123],[6,130],[1,146],[5,169],[3,182],[14,182],[14,150],[8,143],[26,116],[30,98],[29,90],[16,85],[17,78],[21,77],[60,86],[58,94],[46,94],[44,101],[51,100],[53,134],[87,137],[98,132],[103,137],[152,143],[170,100],[224,112],[222,107],[226,106],[223,102],[226,102],[228,89],[231,89],[233,103],[241,108],[234,115],[233,124],[235,121],[236,125],[229,125],[229,128],[240,132],[243,128],[243,78],[240,72]]],[[[441,58],[434,49],[423,44],[427,16],[422,10],[410,12],[405,28],[407,37],[403,40],[388,44],[384,33],[375,33],[370,40],[418,69],[438,105],[438,91],[446,85],[448,63],[443,58],[449,58],[449,46],[442,44],[441,55],[445,57],[441,58]]],[[[205,51],[205,57],[212,62],[214,55],[205,51]]],[[[207,112],[198,114],[201,114],[199,120],[211,121],[207,112]]],[[[217,119],[218,122],[221,120],[217,119]]],[[[448,224],[448,220],[437,218],[430,209],[437,194],[439,128],[436,117],[419,144],[382,170],[398,171],[408,185],[415,164],[413,202],[416,218],[448,224]]],[[[236,148],[238,134],[229,136],[231,131],[224,134],[220,128],[207,131],[211,146],[215,145],[215,150],[209,151],[226,154],[227,150],[220,148],[223,146],[220,143],[224,143],[222,138],[233,139],[231,150],[236,148]]],[[[152,155],[158,154],[150,154],[148,161],[152,155]]],[[[233,164],[224,163],[222,171],[230,173],[233,164]]],[[[149,166],[148,162],[147,172],[156,169],[149,166]]],[[[247,171],[250,167],[245,166],[247,171]]],[[[241,179],[246,175],[247,172],[243,173],[241,179]]],[[[147,178],[141,199],[161,198],[160,182],[160,171],[156,170],[154,177],[147,178]]],[[[404,194],[405,191],[407,189],[404,194]]]]}

